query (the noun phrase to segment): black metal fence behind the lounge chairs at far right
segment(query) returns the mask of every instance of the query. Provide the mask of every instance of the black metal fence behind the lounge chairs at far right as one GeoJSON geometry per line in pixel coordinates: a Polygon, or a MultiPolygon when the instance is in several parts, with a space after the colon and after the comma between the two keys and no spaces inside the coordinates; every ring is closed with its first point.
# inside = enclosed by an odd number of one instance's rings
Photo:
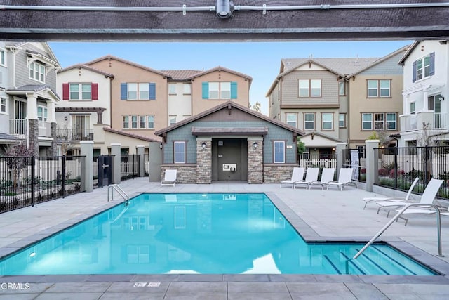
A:
{"type": "Polygon", "coordinates": [[[413,188],[422,193],[431,178],[443,179],[438,197],[449,199],[449,146],[375,149],[375,184],[395,190],[413,188]]]}

